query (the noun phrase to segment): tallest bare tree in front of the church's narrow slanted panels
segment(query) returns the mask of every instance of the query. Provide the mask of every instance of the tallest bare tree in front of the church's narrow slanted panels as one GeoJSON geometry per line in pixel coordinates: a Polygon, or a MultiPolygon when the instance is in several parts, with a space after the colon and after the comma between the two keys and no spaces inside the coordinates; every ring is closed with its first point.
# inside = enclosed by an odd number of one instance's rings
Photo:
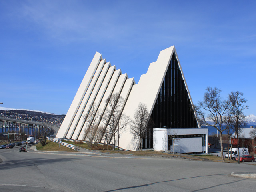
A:
{"type": "MultiPolygon", "coordinates": [[[[106,127],[109,128],[110,132],[112,133],[112,140],[113,140],[113,151],[115,150],[116,146],[116,132],[118,124],[120,123],[120,119],[122,114],[122,107],[124,106],[124,98],[119,96],[118,93],[112,94],[106,101],[107,107],[104,112],[104,116],[102,120],[106,127]]],[[[119,141],[118,141],[119,142],[119,141]]]]}

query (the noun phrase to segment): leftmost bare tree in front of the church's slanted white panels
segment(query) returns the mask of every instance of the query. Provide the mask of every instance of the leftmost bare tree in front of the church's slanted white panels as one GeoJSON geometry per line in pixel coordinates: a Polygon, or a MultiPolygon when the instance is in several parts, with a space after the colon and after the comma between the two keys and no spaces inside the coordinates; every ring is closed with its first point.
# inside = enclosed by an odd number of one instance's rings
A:
{"type": "Polygon", "coordinates": [[[83,117],[86,120],[86,129],[84,130],[84,138],[88,143],[89,147],[93,147],[94,144],[98,144],[98,120],[100,118],[100,111],[97,110],[97,105],[92,104],[89,106],[87,115],[83,117]],[[96,135],[96,136],[95,136],[96,135]]]}

